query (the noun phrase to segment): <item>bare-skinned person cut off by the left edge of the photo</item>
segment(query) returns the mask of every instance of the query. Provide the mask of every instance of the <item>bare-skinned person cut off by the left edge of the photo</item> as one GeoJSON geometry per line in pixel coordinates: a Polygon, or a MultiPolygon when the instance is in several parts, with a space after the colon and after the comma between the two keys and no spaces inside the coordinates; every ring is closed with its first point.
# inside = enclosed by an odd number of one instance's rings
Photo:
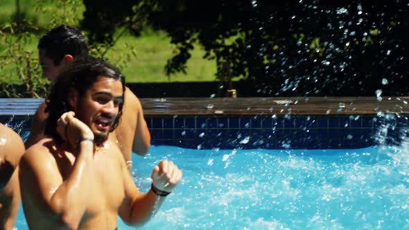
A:
{"type": "Polygon", "coordinates": [[[13,229],[19,211],[18,165],[24,154],[19,134],[0,123],[0,229],[13,229]]]}

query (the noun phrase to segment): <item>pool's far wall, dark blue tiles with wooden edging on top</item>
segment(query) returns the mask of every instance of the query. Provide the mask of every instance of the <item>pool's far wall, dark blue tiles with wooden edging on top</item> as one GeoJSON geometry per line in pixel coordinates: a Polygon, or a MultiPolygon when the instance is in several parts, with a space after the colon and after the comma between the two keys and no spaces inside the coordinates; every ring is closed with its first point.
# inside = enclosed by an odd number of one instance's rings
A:
{"type": "MultiPolygon", "coordinates": [[[[399,143],[406,137],[409,126],[408,113],[402,107],[399,112],[392,109],[381,112],[379,105],[374,105],[378,106],[376,112],[356,112],[351,108],[348,111],[345,100],[341,103],[334,101],[335,107],[331,107],[332,104],[321,106],[322,112],[313,109],[314,105],[317,108],[322,104],[311,102],[306,108],[312,107],[312,110],[292,110],[288,105],[295,102],[295,98],[286,98],[287,103],[282,105],[286,111],[277,105],[274,111],[270,101],[260,99],[258,106],[249,105],[248,100],[242,100],[242,103],[229,100],[223,104],[209,98],[180,104],[185,100],[189,101],[184,98],[173,101],[141,99],[153,145],[195,149],[365,148],[379,142],[399,143]],[[260,111],[261,107],[268,110],[260,111]],[[331,114],[331,109],[336,112],[331,114]]],[[[398,101],[401,100],[399,98],[398,101]]],[[[0,99],[0,122],[13,127],[24,138],[31,127],[32,115],[41,102],[42,99],[0,99]]]]}

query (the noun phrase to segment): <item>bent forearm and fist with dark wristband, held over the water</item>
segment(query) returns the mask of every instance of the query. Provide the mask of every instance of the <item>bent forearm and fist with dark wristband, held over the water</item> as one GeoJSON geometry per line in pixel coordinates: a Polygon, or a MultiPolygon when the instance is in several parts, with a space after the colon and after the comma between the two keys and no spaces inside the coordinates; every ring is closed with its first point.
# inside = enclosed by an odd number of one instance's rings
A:
{"type": "MultiPolygon", "coordinates": [[[[156,195],[152,190],[148,193],[141,193],[132,181],[125,163],[123,163],[123,177],[125,178],[125,199],[120,207],[119,215],[125,223],[141,226],[155,215],[165,197],[156,195]]],[[[164,160],[155,166],[151,177],[153,184],[159,190],[170,193],[182,179],[182,170],[177,168],[172,161],[164,160]]]]}

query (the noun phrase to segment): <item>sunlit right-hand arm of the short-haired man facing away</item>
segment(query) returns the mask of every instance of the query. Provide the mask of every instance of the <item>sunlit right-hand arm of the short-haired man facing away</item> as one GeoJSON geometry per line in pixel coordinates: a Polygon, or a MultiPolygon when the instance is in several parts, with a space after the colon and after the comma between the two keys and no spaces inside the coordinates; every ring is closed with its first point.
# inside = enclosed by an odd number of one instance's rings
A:
{"type": "Polygon", "coordinates": [[[143,109],[141,102],[135,96],[130,89],[125,90],[125,103],[129,103],[132,107],[136,118],[136,128],[134,130],[134,140],[132,144],[132,152],[136,152],[140,156],[145,155],[150,148],[150,132],[148,130],[148,125],[146,124],[145,118],[143,117],[143,109]]]}

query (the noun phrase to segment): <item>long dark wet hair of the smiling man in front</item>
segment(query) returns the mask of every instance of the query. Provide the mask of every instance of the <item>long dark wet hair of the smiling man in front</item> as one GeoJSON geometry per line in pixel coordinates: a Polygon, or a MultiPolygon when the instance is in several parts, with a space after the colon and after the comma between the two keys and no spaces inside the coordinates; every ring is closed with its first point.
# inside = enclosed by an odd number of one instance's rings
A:
{"type": "MultiPolygon", "coordinates": [[[[60,76],[51,86],[48,98],[46,98],[45,112],[48,112],[49,116],[44,127],[44,134],[53,137],[57,143],[61,143],[61,136],[57,132],[57,120],[65,112],[73,110],[68,101],[69,90],[76,89],[78,91],[78,98],[81,99],[85,96],[87,89],[91,88],[99,78],[120,80],[122,83],[122,96],[124,96],[125,76],[104,60],[95,57],[80,58],[71,62],[60,73],[60,76]]],[[[123,103],[120,103],[118,116],[116,116],[110,128],[110,132],[115,130],[121,120],[122,107],[123,103]]]]}

